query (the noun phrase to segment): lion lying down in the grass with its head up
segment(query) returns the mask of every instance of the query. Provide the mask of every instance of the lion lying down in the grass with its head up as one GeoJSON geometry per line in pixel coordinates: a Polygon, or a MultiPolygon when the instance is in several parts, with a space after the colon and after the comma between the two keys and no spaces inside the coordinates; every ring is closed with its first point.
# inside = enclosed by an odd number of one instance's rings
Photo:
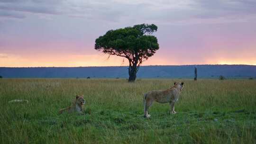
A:
{"type": "Polygon", "coordinates": [[[62,114],[64,111],[67,111],[68,113],[78,112],[80,115],[83,115],[84,104],[85,104],[85,100],[83,99],[83,95],[82,96],[76,95],[73,105],[67,108],[60,109],[59,114],[62,114]]]}

